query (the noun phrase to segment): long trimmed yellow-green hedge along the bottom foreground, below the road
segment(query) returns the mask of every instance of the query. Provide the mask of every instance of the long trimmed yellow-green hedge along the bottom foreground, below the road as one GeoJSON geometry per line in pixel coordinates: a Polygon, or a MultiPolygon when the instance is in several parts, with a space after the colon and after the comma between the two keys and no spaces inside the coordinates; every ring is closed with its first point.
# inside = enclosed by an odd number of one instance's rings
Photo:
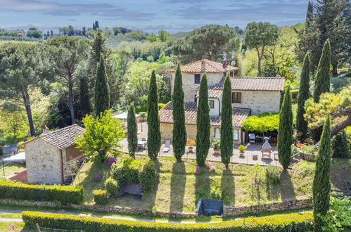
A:
{"type": "Polygon", "coordinates": [[[179,224],[150,221],[127,221],[72,214],[23,212],[27,226],[36,224],[46,228],[84,231],[312,231],[313,214],[276,214],[267,217],[249,217],[217,223],[179,224]]]}

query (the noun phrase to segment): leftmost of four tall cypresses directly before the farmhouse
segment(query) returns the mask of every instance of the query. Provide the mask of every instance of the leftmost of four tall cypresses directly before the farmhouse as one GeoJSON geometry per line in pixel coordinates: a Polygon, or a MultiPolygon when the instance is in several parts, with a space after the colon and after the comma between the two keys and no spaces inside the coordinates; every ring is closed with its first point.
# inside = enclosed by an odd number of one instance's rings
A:
{"type": "Polygon", "coordinates": [[[158,88],[153,70],[148,88],[148,157],[157,160],[161,148],[160,117],[158,115],[158,88]]]}

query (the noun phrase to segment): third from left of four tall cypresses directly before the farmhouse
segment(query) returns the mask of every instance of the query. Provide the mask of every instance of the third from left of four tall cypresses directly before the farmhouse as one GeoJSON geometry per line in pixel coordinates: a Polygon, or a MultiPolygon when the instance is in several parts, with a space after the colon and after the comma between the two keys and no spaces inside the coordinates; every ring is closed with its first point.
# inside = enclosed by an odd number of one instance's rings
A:
{"type": "Polygon", "coordinates": [[[210,149],[210,105],[208,104],[208,77],[203,74],[198,96],[198,112],[196,117],[196,164],[205,166],[210,149]]]}

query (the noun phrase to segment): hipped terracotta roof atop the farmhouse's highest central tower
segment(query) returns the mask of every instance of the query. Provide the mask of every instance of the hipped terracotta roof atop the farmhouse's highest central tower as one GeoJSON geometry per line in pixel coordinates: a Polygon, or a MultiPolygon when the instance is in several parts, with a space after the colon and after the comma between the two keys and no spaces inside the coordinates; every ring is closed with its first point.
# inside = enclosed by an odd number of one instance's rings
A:
{"type": "MultiPolygon", "coordinates": [[[[222,63],[218,63],[208,59],[196,60],[194,62],[180,65],[181,72],[190,72],[190,73],[223,73],[227,71],[235,71],[238,70],[238,67],[233,67],[228,65],[227,67],[223,67],[222,63]]],[[[175,72],[176,68],[171,68],[166,70],[166,72],[175,72]]]]}

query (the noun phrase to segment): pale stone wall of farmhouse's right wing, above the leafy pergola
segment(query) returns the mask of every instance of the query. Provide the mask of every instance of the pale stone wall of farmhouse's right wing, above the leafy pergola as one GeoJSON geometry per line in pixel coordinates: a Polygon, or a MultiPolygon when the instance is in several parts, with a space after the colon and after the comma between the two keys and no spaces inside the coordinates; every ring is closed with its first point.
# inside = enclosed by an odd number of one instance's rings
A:
{"type": "Polygon", "coordinates": [[[241,103],[233,103],[233,107],[250,108],[252,115],[263,112],[279,112],[280,91],[233,91],[241,93],[241,103]]]}

